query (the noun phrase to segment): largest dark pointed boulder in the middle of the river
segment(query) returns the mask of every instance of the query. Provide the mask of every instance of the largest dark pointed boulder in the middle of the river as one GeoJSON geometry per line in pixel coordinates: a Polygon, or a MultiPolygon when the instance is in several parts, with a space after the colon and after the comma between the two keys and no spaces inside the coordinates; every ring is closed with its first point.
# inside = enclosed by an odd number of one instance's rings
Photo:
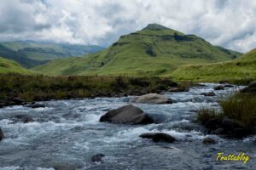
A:
{"type": "Polygon", "coordinates": [[[125,105],[118,109],[110,110],[100,118],[100,122],[148,124],[154,120],[134,105],[125,105]]]}

